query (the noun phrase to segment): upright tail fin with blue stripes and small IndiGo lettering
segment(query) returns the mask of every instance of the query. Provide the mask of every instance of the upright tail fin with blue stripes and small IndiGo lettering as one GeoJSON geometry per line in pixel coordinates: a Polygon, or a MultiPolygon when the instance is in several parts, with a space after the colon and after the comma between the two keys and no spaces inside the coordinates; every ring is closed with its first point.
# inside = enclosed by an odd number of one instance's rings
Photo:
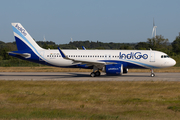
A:
{"type": "Polygon", "coordinates": [[[32,39],[29,33],[20,23],[12,23],[14,37],[18,51],[20,50],[42,50],[42,48],[32,39]]]}

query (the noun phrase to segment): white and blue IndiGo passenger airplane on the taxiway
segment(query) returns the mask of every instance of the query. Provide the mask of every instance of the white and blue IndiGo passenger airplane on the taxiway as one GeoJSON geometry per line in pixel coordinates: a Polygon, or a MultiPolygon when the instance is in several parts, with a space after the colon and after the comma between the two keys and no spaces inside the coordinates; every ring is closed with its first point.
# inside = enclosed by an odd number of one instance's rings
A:
{"type": "Polygon", "coordinates": [[[20,23],[12,23],[17,51],[9,55],[23,60],[44,65],[64,68],[93,69],[91,77],[106,75],[122,75],[128,69],[150,69],[151,77],[155,76],[153,69],[171,67],[176,61],[166,53],[155,50],[62,50],[43,49],[29,35],[20,23]]]}

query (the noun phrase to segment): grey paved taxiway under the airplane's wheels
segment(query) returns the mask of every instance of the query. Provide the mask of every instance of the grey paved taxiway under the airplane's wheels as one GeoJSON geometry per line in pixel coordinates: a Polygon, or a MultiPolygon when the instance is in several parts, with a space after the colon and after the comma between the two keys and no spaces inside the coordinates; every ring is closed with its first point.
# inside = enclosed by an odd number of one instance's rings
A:
{"type": "Polygon", "coordinates": [[[179,73],[128,73],[122,76],[90,77],[87,72],[0,72],[0,80],[55,80],[55,81],[180,81],[179,73]]]}

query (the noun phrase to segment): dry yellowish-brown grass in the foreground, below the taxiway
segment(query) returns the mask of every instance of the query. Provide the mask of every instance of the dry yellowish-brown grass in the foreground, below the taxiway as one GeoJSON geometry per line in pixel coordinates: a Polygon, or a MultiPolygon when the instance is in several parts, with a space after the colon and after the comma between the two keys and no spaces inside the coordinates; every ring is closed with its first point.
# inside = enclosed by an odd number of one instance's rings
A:
{"type": "Polygon", "coordinates": [[[0,119],[179,119],[180,82],[0,81],[0,119]]]}

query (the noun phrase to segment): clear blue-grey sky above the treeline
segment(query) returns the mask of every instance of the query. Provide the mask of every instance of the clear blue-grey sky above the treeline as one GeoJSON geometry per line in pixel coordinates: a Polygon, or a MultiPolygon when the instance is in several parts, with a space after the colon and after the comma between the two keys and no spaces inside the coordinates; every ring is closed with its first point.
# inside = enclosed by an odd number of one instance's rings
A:
{"type": "Polygon", "coordinates": [[[146,42],[157,35],[173,42],[180,32],[180,0],[1,0],[0,41],[14,42],[12,22],[36,40],[146,42]]]}

